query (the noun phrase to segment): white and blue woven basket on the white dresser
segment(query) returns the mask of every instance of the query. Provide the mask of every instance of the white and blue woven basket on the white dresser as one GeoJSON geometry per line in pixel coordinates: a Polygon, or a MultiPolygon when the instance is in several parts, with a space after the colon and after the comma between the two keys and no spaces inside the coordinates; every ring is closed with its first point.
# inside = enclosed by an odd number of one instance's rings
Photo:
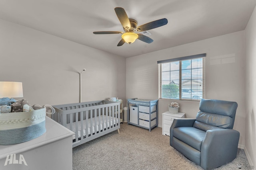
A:
{"type": "Polygon", "coordinates": [[[0,113],[0,145],[13,145],[40,137],[46,132],[45,116],[46,108],[0,113]]]}

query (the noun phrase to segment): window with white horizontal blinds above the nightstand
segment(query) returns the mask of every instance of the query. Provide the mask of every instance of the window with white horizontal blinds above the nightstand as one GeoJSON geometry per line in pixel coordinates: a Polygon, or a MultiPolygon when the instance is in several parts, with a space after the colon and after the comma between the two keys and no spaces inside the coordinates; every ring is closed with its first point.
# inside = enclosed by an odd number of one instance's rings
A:
{"type": "Polygon", "coordinates": [[[195,100],[204,98],[204,59],[206,54],[158,61],[158,97],[195,100]]]}

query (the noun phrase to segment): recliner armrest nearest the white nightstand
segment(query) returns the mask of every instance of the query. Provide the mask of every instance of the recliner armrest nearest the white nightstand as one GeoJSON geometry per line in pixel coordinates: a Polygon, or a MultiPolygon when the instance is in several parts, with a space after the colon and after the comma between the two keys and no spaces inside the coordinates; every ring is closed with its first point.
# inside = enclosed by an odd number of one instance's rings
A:
{"type": "Polygon", "coordinates": [[[175,127],[192,127],[196,119],[176,118],[170,127],[170,145],[172,146],[172,129],[175,127]]]}

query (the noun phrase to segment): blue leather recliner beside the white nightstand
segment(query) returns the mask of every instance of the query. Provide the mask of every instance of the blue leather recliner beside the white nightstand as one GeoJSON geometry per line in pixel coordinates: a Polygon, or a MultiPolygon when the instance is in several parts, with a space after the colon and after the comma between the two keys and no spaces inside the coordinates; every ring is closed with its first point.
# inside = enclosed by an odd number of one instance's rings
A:
{"type": "Polygon", "coordinates": [[[170,145],[204,170],[236,158],[240,133],[233,130],[236,102],[200,101],[196,119],[174,119],[170,145]]]}

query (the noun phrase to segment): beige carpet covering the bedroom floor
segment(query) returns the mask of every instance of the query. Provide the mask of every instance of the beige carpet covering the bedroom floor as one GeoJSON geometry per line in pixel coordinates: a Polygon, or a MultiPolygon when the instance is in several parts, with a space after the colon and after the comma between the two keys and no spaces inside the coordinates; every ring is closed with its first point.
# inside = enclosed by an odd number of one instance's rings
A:
{"type": "MultiPolygon", "coordinates": [[[[216,170],[249,167],[244,150],[237,158],[216,170]]],[[[114,131],[73,149],[73,170],[202,170],[169,144],[162,128],[147,129],[121,123],[114,131]]]]}

